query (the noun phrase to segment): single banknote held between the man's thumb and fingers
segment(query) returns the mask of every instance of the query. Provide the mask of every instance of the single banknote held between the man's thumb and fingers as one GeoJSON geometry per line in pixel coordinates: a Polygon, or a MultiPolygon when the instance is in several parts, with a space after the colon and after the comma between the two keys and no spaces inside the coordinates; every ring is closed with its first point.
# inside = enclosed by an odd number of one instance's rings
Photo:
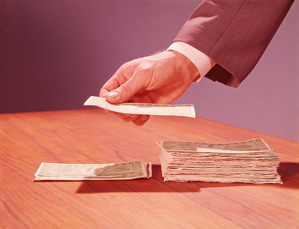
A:
{"type": "Polygon", "coordinates": [[[125,114],[174,115],[195,118],[194,105],[168,105],[151,103],[121,103],[112,104],[104,98],[91,96],[84,105],[98,106],[110,111],[125,114]]]}

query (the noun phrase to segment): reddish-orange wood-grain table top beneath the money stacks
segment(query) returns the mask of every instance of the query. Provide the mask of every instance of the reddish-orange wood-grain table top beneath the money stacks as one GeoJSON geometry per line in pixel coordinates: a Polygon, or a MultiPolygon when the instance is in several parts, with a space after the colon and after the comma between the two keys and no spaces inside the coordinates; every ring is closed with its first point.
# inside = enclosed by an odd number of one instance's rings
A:
{"type": "Polygon", "coordinates": [[[0,115],[0,228],[299,228],[299,143],[202,118],[141,127],[102,109],[0,115]],[[283,184],[163,182],[155,141],[264,138],[283,184]],[[152,178],[39,181],[41,162],[151,161],[152,178]]]}

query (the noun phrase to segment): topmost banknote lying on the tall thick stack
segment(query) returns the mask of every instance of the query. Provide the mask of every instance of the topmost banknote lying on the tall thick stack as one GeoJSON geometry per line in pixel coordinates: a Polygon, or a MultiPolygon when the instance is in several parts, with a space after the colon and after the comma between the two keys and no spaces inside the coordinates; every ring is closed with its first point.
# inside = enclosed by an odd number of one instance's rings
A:
{"type": "Polygon", "coordinates": [[[205,143],[191,141],[161,141],[159,146],[172,152],[270,152],[272,149],[263,139],[231,143],[205,143]]]}

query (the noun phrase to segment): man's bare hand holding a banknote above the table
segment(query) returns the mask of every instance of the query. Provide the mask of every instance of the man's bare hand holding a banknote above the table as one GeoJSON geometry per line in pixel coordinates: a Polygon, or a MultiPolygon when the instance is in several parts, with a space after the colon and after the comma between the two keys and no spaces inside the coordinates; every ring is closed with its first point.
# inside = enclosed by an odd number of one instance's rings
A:
{"type": "MultiPolygon", "coordinates": [[[[196,66],[183,54],[163,51],[123,64],[101,88],[100,97],[113,104],[170,104],[184,94],[198,75],[196,66]]],[[[149,115],[111,113],[137,126],[149,119],[149,115]]]]}

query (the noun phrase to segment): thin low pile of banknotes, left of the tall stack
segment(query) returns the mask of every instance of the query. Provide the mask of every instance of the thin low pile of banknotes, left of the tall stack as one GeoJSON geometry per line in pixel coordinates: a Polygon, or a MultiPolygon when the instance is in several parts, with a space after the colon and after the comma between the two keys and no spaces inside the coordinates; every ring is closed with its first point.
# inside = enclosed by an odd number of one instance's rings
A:
{"type": "Polygon", "coordinates": [[[152,164],[129,161],[115,164],[42,163],[34,180],[131,180],[152,176],[152,164]]]}

